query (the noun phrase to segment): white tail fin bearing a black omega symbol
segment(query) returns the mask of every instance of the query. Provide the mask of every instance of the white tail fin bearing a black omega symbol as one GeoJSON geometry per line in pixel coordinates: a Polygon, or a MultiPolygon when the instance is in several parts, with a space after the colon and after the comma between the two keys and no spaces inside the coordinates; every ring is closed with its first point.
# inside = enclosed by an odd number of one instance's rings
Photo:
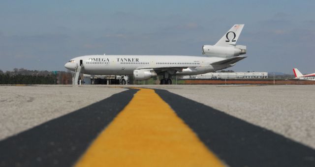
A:
{"type": "Polygon", "coordinates": [[[214,46],[234,47],[244,25],[234,25],[214,46]],[[231,46],[232,45],[232,46],[231,46]]]}

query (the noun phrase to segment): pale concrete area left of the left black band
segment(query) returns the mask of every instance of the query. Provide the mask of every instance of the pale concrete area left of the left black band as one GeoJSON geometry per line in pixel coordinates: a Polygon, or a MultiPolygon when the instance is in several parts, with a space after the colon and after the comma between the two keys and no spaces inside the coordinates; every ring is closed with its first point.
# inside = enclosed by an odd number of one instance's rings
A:
{"type": "Polygon", "coordinates": [[[104,86],[0,86],[0,139],[122,92],[104,86]]]}

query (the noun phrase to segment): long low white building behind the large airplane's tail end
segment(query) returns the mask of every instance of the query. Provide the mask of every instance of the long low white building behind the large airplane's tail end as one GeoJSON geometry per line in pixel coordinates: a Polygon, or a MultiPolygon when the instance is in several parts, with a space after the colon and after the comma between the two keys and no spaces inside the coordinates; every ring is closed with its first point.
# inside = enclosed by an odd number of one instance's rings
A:
{"type": "Polygon", "coordinates": [[[237,73],[206,73],[200,75],[183,76],[183,79],[263,79],[268,78],[267,72],[237,72],[237,73]]]}

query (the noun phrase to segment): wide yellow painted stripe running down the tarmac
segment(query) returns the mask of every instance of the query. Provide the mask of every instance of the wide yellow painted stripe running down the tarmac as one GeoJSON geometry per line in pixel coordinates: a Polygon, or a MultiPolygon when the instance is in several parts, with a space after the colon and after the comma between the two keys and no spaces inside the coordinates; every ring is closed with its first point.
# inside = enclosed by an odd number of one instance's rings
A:
{"type": "Polygon", "coordinates": [[[101,132],[75,166],[224,165],[154,90],[141,89],[101,132]]]}

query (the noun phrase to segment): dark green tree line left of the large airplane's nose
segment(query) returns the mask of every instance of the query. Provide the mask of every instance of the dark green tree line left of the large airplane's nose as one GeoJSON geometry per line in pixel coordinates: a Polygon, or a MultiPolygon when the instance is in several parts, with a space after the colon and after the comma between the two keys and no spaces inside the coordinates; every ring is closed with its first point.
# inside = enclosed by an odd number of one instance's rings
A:
{"type": "Polygon", "coordinates": [[[0,70],[0,84],[72,84],[72,73],[24,68],[6,72],[0,70]]]}

